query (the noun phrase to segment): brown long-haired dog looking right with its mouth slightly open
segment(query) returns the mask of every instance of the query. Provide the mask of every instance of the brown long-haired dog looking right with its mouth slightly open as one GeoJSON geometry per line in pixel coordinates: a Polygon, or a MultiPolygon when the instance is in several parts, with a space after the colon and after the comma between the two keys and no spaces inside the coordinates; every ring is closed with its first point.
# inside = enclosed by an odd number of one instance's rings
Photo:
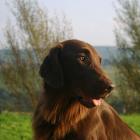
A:
{"type": "Polygon", "coordinates": [[[44,91],[33,118],[35,140],[140,140],[103,100],[114,86],[88,43],[58,44],[40,75],[44,91]]]}

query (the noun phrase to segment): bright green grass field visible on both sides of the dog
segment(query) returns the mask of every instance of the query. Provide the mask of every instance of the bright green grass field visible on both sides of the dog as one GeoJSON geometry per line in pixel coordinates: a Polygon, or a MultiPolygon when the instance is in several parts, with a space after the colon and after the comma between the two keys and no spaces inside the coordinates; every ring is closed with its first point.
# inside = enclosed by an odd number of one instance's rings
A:
{"type": "MultiPolygon", "coordinates": [[[[140,114],[121,116],[140,134],[140,114]]],[[[25,113],[0,114],[0,140],[31,140],[31,115],[25,113]]]]}

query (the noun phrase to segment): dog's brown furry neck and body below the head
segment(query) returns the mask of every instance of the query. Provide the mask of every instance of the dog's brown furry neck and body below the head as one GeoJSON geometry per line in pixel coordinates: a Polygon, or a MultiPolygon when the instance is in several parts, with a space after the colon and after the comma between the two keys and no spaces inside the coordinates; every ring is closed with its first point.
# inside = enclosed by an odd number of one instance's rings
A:
{"type": "MultiPolygon", "coordinates": [[[[56,96],[56,91],[48,91],[56,96]]],[[[59,98],[47,97],[46,91],[40,97],[33,118],[34,140],[140,140],[104,101],[88,109],[57,93],[59,98]]]]}

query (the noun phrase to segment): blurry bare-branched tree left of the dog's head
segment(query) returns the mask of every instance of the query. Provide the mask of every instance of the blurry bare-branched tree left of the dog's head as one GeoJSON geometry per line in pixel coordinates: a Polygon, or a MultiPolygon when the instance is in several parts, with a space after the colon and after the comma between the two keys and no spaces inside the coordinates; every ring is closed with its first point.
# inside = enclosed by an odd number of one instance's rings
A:
{"type": "Polygon", "coordinates": [[[49,48],[72,37],[72,27],[65,16],[49,17],[34,0],[13,0],[10,8],[15,22],[8,22],[5,41],[1,41],[1,45],[11,52],[8,62],[1,66],[3,82],[17,97],[18,105],[20,97],[27,96],[34,107],[41,88],[40,63],[49,48]]]}

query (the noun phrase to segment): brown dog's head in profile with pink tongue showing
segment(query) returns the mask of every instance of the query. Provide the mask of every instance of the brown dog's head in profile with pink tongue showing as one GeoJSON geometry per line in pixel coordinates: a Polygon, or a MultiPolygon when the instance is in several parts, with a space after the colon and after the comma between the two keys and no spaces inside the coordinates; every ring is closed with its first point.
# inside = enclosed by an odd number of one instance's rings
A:
{"type": "Polygon", "coordinates": [[[81,104],[101,104],[114,85],[101,68],[101,57],[88,43],[67,40],[50,50],[40,75],[53,88],[72,90],[81,104]]]}

